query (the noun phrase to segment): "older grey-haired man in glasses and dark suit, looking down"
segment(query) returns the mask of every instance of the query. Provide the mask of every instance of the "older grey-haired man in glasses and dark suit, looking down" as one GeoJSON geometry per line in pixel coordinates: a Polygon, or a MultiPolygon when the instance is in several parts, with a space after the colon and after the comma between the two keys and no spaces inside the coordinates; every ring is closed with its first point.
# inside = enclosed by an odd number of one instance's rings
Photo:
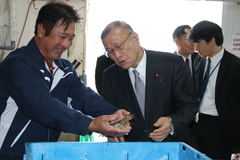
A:
{"type": "Polygon", "coordinates": [[[109,141],[174,141],[196,147],[188,127],[197,112],[194,86],[183,59],[145,50],[123,21],[108,24],[101,39],[105,55],[116,62],[104,72],[102,96],[135,116],[128,136],[109,141]]]}

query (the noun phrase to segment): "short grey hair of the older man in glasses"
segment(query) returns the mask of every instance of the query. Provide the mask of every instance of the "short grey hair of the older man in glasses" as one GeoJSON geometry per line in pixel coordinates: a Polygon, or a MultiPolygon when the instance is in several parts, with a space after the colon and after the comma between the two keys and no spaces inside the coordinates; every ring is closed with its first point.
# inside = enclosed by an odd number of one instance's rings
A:
{"type": "Polygon", "coordinates": [[[129,24],[127,24],[126,22],[124,22],[124,21],[113,21],[113,22],[109,23],[105,27],[105,29],[102,31],[101,39],[106,37],[111,32],[111,30],[115,27],[121,27],[121,28],[130,30],[131,32],[133,32],[132,27],[129,24]]]}

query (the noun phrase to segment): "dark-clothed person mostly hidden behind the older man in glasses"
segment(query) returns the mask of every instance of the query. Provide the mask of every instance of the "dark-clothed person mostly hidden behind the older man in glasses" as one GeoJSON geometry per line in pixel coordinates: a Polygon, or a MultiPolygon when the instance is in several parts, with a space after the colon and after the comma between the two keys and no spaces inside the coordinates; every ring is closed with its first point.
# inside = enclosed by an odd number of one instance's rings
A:
{"type": "Polygon", "coordinates": [[[114,60],[106,57],[105,55],[101,55],[97,58],[97,63],[95,68],[95,85],[100,95],[102,94],[103,71],[114,63],[115,63],[114,60]]]}

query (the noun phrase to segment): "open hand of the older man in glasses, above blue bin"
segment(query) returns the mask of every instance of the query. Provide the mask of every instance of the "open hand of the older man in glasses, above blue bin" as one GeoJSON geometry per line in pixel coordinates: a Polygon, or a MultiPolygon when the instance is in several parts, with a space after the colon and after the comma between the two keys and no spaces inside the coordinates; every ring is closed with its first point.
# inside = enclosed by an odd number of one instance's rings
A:
{"type": "Polygon", "coordinates": [[[149,137],[152,138],[154,141],[163,141],[170,133],[170,119],[167,117],[161,117],[153,125],[157,129],[150,133],[149,137]]]}

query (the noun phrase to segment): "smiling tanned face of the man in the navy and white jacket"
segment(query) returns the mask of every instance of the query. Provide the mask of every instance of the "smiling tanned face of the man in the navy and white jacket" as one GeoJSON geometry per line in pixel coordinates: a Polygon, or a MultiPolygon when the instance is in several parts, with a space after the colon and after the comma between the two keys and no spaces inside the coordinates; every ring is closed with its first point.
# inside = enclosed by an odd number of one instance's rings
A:
{"type": "Polygon", "coordinates": [[[39,37],[37,45],[43,56],[49,61],[57,60],[72,45],[75,24],[69,24],[66,30],[65,26],[55,25],[49,36],[45,36],[45,29],[39,24],[37,36],[39,37]]]}

